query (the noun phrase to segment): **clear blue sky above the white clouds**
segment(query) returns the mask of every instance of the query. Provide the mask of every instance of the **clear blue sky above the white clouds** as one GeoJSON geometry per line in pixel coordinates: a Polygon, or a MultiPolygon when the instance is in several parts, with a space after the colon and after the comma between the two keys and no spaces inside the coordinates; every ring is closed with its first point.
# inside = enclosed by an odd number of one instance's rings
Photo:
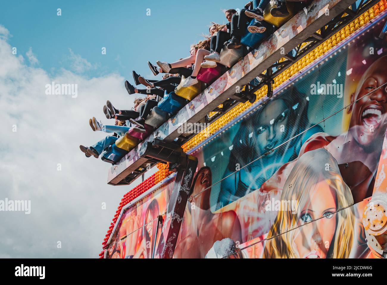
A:
{"type": "Polygon", "coordinates": [[[84,71],[89,77],[117,72],[132,82],[132,70],[153,76],[147,60],[189,55],[189,45],[208,33],[211,21],[226,23],[221,9],[243,5],[231,0],[7,1],[0,24],[9,30],[9,43],[18,54],[32,47],[39,67],[50,74],[71,70],[73,54],[91,64],[84,71]],[[57,16],[58,8],[62,16],[57,16]],[[148,8],[151,16],[146,15],[148,8]]]}

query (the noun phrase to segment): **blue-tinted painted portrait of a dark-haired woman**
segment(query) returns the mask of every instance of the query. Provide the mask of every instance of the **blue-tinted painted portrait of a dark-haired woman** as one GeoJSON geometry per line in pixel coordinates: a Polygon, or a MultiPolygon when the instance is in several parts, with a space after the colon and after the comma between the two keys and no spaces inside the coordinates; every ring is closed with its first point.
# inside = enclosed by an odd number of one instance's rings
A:
{"type": "Polygon", "coordinates": [[[241,122],[223,177],[231,175],[221,182],[217,208],[259,189],[280,166],[297,157],[311,135],[322,131],[308,119],[308,100],[292,87],[241,122]]]}

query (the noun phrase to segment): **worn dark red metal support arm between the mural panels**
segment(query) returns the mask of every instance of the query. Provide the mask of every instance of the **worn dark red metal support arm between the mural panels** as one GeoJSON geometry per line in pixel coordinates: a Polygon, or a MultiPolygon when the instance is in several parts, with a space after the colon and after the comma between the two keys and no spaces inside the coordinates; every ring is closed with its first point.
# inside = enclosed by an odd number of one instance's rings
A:
{"type": "Polygon", "coordinates": [[[159,258],[173,257],[196,167],[197,158],[192,155],[187,155],[185,167],[177,171],[156,252],[156,256],[159,258]]]}

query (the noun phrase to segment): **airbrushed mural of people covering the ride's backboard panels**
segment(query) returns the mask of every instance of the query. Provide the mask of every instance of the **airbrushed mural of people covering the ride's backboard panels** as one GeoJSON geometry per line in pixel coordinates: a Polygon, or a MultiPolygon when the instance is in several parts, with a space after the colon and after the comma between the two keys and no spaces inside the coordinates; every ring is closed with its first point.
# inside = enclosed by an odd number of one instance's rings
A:
{"type": "MultiPolygon", "coordinates": [[[[191,153],[198,157],[198,171],[174,257],[374,257],[362,213],[387,126],[387,89],[379,88],[387,82],[387,45],[378,38],[382,26],[375,24],[191,153]],[[381,52],[370,54],[370,46],[381,52]],[[318,81],[344,86],[342,96],[313,95],[310,86],[318,81]],[[269,209],[267,202],[295,207],[269,209]]],[[[126,237],[122,245],[116,237],[108,256],[152,257],[163,237],[147,209],[157,201],[157,212],[164,214],[171,185],[120,221],[126,237]]]]}

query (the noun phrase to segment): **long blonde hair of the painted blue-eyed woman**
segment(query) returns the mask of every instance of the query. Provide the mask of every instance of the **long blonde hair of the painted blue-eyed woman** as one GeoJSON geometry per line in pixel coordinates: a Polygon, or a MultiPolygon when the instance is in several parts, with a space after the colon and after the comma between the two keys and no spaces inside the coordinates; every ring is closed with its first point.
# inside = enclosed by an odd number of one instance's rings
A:
{"type": "MultiPolygon", "coordinates": [[[[325,180],[336,193],[336,231],[330,243],[328,258],[348,258],[353,242],[354,214],[352,193],[342,180],[336,159],[325,149],[306,152],[296,162],[286,179],[281,200],[298,201],[297,210],[278,211],[267,236],[263,258],[300,258],[295,249],[295,232],[301,211],[310,199],[310,190],[325,180]],[[329,164],[329,171],[326,171],[329,164]]],[[[320,217],[319,217],[320,218],[320,217]]],[[[314,220],[315,221],[315,220],[314,220]]],[[[311,223],[313,223],[312,221],[311,223]]]]}

